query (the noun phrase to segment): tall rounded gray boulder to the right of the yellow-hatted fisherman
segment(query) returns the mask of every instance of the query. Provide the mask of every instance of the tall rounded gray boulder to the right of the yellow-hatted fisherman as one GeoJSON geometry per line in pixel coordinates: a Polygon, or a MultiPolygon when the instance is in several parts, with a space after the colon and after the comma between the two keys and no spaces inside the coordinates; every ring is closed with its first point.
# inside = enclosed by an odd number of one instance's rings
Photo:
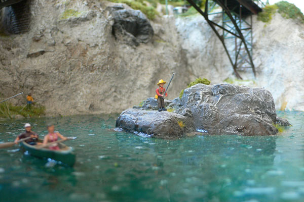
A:
{"type": "Polygon", "coordinates": [[[177,110],[211,134],[274,135],[274,99],[268,90],[234,84],[197,84],[184,90],[177,110]]]}

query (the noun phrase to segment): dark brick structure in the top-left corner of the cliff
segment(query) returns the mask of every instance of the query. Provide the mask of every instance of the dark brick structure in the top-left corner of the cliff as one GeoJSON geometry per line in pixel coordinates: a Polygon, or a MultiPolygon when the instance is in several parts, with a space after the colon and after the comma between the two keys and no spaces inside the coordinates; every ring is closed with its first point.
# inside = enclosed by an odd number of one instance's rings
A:
{"type": "Polygon", "coordinates": [[[4,32],[20,34],[29,28],[28,0],[0,0],[0,27],[4,32]]]}

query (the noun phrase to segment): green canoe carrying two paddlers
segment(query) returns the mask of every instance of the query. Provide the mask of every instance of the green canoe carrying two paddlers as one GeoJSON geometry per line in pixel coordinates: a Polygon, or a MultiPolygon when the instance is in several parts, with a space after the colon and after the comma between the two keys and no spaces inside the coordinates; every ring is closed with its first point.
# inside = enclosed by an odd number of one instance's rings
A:
{"type": "MultiPolygon", "coordinates": [[[[42,140],[38,140],[38,141],[42,142],[42,140]]],[[[28,153],[31,156],[37,158],[52,159],[71,167],[75,163],[76,158],[72,152],[73,151],[72,147],[66,146],[61,142],[58,143],[60,150],[52,150],[49,148],[36,148],[36,145],[30,145],[25,141],[21,142],[20,144],[21,146],[24,147],[25,150],[28,151],[28,153]]]]}

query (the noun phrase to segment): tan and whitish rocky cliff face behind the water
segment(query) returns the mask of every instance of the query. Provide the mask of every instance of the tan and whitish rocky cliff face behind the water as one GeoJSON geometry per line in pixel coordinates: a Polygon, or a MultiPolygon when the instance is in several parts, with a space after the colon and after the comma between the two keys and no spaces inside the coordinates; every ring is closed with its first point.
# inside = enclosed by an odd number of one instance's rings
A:
{"type": "MultiPolygon", "coordinates": [[[[107,9],[112,5],[31,1],[29,32],[0,36],[1,93],[32,92],[49,115],[115,113],[153,96],[157,81],[173,72],[170,98],[199,76],[212,83],[231,77],[229,61],[203,17],[158,18],[150,22],[150,39],[130,44],[113,33],[115,15],[107,9]]],[[[254,19],[254,85],[269,89],[279,108],[287,103],[284,109],[304,110],[302,28],[279,14],[266,27],[254,19]]],[[[13,102],[23,104],[24,97],[13,102]]]]}

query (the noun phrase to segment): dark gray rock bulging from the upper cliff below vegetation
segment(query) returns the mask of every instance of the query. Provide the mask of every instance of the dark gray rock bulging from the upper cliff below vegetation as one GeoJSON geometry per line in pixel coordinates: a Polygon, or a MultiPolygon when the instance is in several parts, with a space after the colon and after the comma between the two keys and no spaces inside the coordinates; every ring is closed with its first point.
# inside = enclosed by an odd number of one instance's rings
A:
{"type": "Polygon", "coordinates": [[[136,46],[151,41],[154,30],[141,11],[119,6],[109,7],[108,10],[114,19],[112,33],[117,39],[136,46]]]}

